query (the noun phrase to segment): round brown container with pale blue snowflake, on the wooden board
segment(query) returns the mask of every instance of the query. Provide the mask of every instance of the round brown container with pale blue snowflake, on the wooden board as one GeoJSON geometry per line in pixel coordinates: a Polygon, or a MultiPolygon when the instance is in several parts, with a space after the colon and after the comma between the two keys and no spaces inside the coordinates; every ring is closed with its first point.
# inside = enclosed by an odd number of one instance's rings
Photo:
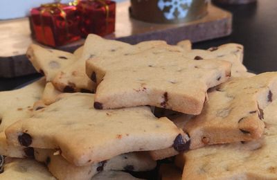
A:
{"type": "Polygon", "coordinates": [[[177,24],[204,17],[207,0],[131,0],[134,19],[160,24],[177,24]]]}

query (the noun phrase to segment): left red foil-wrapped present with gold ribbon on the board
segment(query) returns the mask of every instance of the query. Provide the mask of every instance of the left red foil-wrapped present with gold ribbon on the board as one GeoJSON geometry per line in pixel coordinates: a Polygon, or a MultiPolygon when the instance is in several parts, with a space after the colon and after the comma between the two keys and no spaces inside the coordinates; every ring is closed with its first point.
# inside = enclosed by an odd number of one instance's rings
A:
{"type": "Polygon", "coordinates": [[[62,46],[80,39],[80,15],[75,6],[47,3],[30,10],[30,26],[37,42],[62,46]]]}

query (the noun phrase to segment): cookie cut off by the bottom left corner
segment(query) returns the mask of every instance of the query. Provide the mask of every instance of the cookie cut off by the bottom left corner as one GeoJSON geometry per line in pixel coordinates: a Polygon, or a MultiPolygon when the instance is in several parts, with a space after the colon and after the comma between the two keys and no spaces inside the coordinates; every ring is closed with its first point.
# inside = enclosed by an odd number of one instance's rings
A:
{"type": "Polygon", "coordinates": [[[48,172],[47,168],[33,159],[13,159],[4,165],[0,174],[3,180],[54,180],[55,177],[48,172]]]}

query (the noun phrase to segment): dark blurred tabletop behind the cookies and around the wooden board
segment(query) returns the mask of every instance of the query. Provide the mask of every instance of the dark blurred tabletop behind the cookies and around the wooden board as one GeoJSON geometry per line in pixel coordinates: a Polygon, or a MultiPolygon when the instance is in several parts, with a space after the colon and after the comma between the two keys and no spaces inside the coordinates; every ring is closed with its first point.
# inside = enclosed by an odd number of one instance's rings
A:
{"type": "MultiPolygon", "coordinates": [[[[247,5],[217,6],[233,13],[233,33],[229,37],[193,44],[209,48],[229,42],[244,45],[244,65],[249,71],[277,71],[277,0],[258,0],[247,5]]],[[[0,91],[14,89],[40,75],[0,78],[0,91]]]]}

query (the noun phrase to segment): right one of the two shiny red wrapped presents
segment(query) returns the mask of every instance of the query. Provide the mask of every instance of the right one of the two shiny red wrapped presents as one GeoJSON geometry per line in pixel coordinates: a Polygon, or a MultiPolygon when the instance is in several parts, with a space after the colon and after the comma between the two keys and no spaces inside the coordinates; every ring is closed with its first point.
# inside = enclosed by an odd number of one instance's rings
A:
{"type": "Polygon", "coordinates": [[[104,36],[114,32],[116,3],[109,0],[80,0],[77,9],[81,15],[82,36],[90,33],[104,36]]]}

